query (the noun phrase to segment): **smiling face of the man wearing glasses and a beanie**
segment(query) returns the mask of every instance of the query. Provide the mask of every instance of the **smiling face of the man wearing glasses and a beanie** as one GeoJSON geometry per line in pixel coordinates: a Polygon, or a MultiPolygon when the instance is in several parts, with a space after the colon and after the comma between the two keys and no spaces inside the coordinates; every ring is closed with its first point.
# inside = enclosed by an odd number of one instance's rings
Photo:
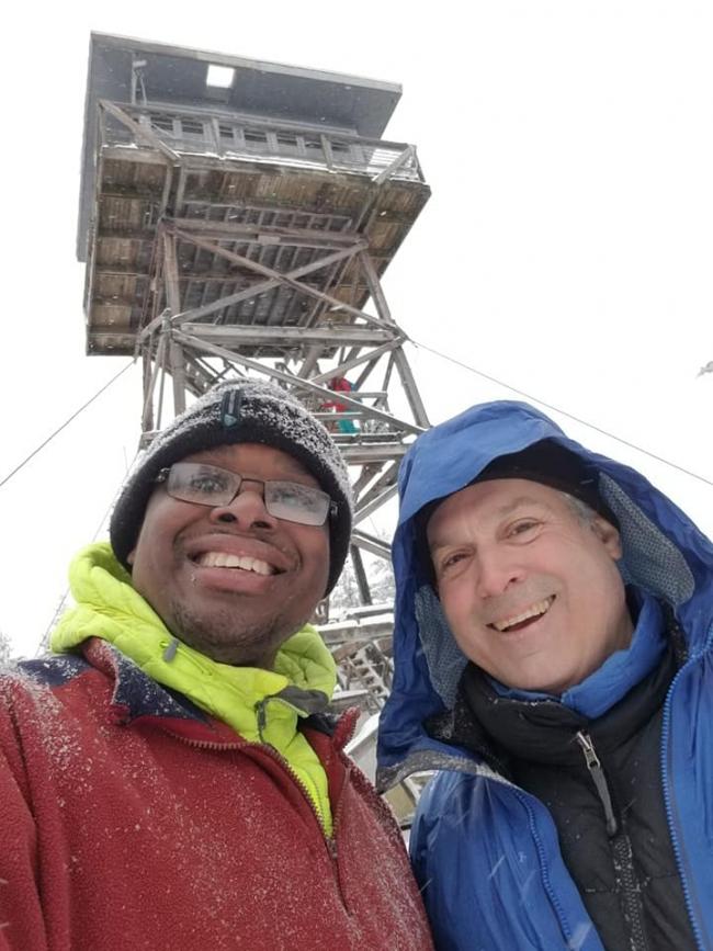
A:
{"type": "MultiPolygon", "coordinates": [[[[328,516],[338,503],[297,460],[268,445],[193,453],[157,478],[166,491],[151,496],[126,557],[134,588],[184,644],[269,670],[325,595],[328,516]]],[[[331,491],[338,498],[344,488],[331,491]]]]}

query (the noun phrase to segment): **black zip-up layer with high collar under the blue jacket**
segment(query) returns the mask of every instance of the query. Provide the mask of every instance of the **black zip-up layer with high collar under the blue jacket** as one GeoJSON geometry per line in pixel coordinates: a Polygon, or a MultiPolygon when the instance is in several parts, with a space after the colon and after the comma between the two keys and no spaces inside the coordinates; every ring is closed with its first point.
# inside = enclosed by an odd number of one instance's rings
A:
{"type": "Polygon", "coordinates": [[[474,666],[461,683],[457,733],[550,810],[607,951],[697,948],[660,778],[663,707],[676,669],[671,647],[595,721],[555,701],[500,697],[474,666]]]}

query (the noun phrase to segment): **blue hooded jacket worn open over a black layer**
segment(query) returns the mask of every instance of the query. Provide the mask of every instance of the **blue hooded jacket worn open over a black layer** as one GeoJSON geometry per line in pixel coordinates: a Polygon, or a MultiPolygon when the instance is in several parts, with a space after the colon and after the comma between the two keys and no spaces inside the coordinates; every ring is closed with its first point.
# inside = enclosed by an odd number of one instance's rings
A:
{"type": "Polygon", "coordinates": [[[472,751],[429,736],[452,709],[466,665],[430,584],[418,512],[468,485],[488,463],[553,440],[598,478],[615,514],[626,584],[674,609],[688,645],[664,709],[665,807],[700,949],[713,949],[713,544],[641,474],[589,452],[522,403],[476,406],[411,446],[399,474],[394,539],[395,677],[382,713],[378,785],[440,772],[419,802],[411,859],[439,949],[602,951],[546,807],[472,751]]]}

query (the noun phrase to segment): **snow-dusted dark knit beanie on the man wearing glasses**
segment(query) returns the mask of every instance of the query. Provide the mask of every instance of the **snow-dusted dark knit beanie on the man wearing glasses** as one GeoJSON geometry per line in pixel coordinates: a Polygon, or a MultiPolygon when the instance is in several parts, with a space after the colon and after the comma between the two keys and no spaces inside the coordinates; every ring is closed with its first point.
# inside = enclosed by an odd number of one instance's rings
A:
{"type": "Polygon", "coordinates": [[[156,437],[114,507],[109,528],[114,554],[131,570],[126,559],[162,468],[195,452],[241,442],[269,445],[296,458],[337,503],[336,514],[329,517],[327,596],[349,551],[352,497],[347,464],[325,427],[294,396],[257,380],[217,384],[156,437]]]}

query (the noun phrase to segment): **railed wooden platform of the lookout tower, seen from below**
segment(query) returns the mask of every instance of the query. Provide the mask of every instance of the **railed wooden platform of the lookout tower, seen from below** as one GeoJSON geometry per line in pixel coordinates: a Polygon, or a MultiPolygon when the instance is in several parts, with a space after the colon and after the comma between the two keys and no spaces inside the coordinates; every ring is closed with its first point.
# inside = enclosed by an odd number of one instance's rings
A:
{"type": "Polygon", "coordinates": [[[328,326],[343,331],[335,346],[378,346],[377,329],[349,338],[371,294],[359,253],[381,276],[429,197],[410,146],[106,102],[99,123],[89,353],[133,354],[169,306],[168,233],[174,299],[217,344],[220,327],[240,328],[246,355],[294,359],[328,326]]]}

